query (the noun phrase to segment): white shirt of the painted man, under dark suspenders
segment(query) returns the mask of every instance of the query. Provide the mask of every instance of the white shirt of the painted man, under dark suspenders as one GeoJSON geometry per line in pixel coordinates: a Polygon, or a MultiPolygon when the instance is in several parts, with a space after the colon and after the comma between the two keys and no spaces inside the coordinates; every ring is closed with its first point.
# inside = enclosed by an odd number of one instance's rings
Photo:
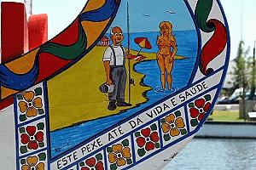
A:
{"type": "MultiPolygon", "coordinates": [[[[115,53],[116,65],[124,65],[125,56],[121,46],[112,45],[112,47],[115,53]]],[[[110,47],[106,48],[103,61],[110,61],[109,65],[114,65],[113,51],[110,47]]]]}

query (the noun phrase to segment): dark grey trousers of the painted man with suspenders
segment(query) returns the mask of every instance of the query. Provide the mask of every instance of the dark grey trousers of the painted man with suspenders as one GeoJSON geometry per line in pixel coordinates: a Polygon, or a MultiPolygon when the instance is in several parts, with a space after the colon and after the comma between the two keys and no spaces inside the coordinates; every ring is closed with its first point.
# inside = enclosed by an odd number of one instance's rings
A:
{"type": "Polygon", "coordinates": [[[111,66],[110,75],[115,85],[113,93],[108,94],[110,101],[125,101],[126,70],[125,66],[111,66]]]}

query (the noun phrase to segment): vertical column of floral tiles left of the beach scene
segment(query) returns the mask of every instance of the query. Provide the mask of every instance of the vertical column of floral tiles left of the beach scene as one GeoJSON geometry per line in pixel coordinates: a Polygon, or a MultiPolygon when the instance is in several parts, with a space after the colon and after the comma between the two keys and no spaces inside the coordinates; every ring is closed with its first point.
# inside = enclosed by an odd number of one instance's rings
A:
{"type": "Polygon", "coordinates": [[[46,82],[15,96],[17,169],[48,169],[49,127],[46,82]]]}

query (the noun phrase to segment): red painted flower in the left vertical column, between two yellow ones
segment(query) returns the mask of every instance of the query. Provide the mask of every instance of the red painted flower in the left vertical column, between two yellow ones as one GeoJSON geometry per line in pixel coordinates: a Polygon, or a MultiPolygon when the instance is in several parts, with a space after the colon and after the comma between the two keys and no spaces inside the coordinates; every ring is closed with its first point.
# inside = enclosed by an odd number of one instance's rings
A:
{"type": "Polygon", "coordinates": [[[22,133],[21,143],[27,144],[27,148],[30,150],[37,150],[38,149],[38,143],[44,141],[44,133],[39,131],[37,132],[37,127],[34,126],[28,126],[26,127],[26,133],[22,133]]]}

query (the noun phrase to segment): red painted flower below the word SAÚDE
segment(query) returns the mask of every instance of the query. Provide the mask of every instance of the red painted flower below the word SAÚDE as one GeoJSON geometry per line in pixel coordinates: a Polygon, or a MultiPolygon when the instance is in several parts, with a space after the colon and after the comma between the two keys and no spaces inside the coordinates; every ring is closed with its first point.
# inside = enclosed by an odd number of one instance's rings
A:
{"type": "Polygon", "coordinates": [[[189,109],[190,116],[192,118],[198,118],[201,121],[206,115],[207,111],[209,111],[211,107],[210,102],[206,102],[206,99],[196,99],[195,107],[189,109]]]}

